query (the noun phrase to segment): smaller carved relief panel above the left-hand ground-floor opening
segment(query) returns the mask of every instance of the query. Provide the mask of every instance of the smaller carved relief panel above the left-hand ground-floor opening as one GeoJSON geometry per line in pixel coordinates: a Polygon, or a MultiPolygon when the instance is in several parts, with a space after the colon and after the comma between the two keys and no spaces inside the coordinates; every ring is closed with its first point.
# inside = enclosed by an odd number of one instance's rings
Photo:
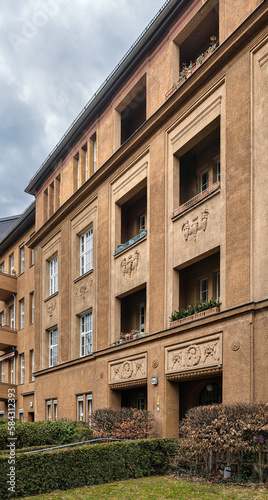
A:
{"type": "Polygon", "coordinates": [[[146,377],[146,354],[109,363],[109,384],[139,380],[146,377]]]}

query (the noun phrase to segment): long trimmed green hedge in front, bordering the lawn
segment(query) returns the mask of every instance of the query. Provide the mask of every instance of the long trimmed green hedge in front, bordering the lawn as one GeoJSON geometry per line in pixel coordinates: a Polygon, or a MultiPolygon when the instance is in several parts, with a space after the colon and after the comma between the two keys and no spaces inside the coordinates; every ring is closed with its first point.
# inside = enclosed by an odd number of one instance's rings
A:
{"type": "MultiPolygon", "coordinates": [[[[85,485],[137,478],[169,471],[175,439],[152,439],[76,446],[16,456],[15,497],[66,490],[85,485]]],[[[0,455],[1,498],[8,492],[8,459],[0,455]]]]}

